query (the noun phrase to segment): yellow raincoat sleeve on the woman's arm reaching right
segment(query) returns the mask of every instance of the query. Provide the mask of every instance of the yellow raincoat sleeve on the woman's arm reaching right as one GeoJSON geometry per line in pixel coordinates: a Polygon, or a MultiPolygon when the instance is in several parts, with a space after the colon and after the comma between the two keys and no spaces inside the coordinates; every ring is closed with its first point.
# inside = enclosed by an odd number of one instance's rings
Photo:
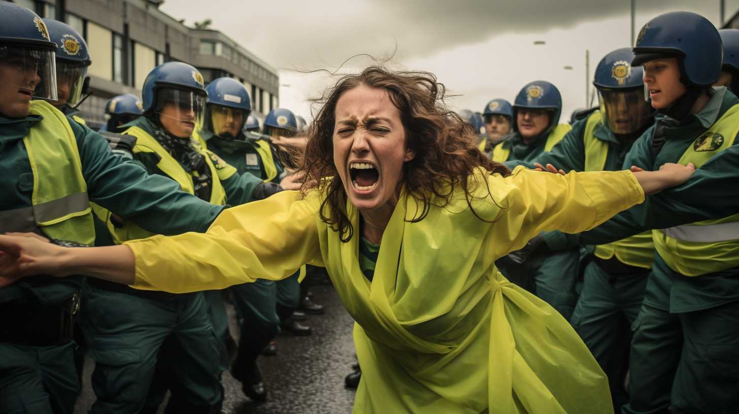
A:
{"type": "Polygon", "coordinates": [[[644,189],[629,171],[562,176],[519,166],[488,183],[502,207],[492,228],[497,257],[522,248],[540,231],[586,231],[644,201],[644,189]]]}

